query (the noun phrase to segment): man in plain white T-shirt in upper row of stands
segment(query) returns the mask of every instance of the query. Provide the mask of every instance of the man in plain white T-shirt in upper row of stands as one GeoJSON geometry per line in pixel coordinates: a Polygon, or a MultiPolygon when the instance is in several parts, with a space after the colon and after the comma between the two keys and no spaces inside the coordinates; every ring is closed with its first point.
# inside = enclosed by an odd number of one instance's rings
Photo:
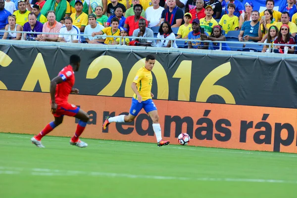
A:
{"type": "Polygon", "coordinates": [[[146,19],[148,20],[148,27],[155,27],[161,25],[161,15],[164,10],[159,6],[160,0],[151,0],[152,6],[146,9],[146,19]]]}

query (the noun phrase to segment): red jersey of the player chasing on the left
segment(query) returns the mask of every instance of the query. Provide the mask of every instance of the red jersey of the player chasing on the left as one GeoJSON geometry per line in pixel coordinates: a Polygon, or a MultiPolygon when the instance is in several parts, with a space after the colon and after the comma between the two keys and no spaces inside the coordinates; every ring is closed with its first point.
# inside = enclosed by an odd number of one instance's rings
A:
{"type": "Polygon", "coordinates": [[[63,79],[63,82],[57,84],[55,101],[57,104],[65,103],[68,100],[68,95],[75,82],[74,72],[71,65],[64,67],[58,74],[63,79]]]}

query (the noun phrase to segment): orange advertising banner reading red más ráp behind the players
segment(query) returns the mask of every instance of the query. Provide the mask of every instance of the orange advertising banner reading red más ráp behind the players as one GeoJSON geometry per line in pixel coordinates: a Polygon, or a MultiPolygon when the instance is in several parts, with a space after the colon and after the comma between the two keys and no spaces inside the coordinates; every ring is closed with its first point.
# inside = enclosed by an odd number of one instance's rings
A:
{"type": "MultiPolygon", "coordinates": [[[[38,134],[53,116],[49,93],[0,91],[0,132],[38,134]]],[[[71,95],[69,102],[90,115],[82,137],[155,143],[152,121],[144,110],[132,123],[111,123],[102,131],[107,115],[128,113],[130,98],[71,95]]],[[[231,104],[154,100],[158,108],[162,136],[178,144],[183,132],[190,145],[297,153],[297,109],[231,104]]],[[[78,120],[64,118],[50,133],[72,136],[78,120]]]]}

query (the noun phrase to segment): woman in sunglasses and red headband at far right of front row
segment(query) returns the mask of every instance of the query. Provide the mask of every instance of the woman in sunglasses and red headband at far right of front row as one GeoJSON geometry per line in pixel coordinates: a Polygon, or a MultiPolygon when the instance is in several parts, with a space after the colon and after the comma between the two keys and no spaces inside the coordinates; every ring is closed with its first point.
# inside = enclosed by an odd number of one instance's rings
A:
{"type": "MultiPolygon", "coordinates": [[[[290,27],[287,24],[283,24],[280,28],[278,36],[274,40],[274,52],[275,53],[284,53],[285,46],[280,44],[290,44],[295,45],[294,37],[290,34],[290,27]]],[[[294,46],[288,46],[288,53],[294,53],[294,46]]]]}

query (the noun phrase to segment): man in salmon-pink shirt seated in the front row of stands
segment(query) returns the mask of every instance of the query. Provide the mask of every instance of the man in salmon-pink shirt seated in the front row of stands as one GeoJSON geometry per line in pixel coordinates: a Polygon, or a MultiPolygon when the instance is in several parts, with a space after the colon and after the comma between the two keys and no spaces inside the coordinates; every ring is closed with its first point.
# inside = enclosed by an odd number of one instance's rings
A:
{"type": "MultiPolygon", "coordinates": [[[[62,23],[57,22],[55,19],[55,12],[53,10],[48,11],[47,14],[48,22],[43,25],[42,32],[43,33],[59,33],[61,27],[63,27],[62,23]]],[[[63,18],[64,19],[64,18],[63,18]]],[[[65,19],[61,20],[61,22],[65,23],[65,19]]],[[[58,34],[42,34],[40,41],[58,41],[58,34]]]]}

